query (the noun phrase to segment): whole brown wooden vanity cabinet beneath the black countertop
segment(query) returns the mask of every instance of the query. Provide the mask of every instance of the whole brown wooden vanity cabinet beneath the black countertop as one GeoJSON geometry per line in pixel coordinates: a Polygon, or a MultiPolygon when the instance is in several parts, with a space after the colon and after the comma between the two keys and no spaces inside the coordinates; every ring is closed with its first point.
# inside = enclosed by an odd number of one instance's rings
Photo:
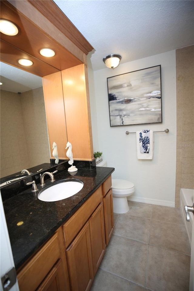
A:
{"type": "Polygon", "coordinates": [[[87,291],[113,231],[111,176],[19,271],[20,291],[87,291]]]}

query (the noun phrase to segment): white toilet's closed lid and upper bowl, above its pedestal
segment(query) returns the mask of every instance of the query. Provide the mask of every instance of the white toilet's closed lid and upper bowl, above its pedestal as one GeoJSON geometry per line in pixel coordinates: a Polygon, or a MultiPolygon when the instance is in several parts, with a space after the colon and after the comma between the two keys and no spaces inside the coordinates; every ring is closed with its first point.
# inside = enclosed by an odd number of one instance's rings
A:
{"type": "MultiPolygon", "coordinates": [[[[112,179],[112,193],[117,195],[132,194],[135,186],[132,182],[122,179],[112,179]]],[[[121,197],[121,196],[119,196],[121,197]]]]}

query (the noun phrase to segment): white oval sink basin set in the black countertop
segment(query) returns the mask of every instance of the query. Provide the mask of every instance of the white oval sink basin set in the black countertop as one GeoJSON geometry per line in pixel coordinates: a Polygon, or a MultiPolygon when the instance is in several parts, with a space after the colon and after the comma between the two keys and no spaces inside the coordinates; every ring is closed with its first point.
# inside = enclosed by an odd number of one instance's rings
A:
{"type": "Polygon", "coordinates": [[[66,199],[78,193],[83,186],[84,183],[80,180],[62,180],[55,182],[54,185],[40,190],[38,193],[38,199],[48,202],[66,199]]]}

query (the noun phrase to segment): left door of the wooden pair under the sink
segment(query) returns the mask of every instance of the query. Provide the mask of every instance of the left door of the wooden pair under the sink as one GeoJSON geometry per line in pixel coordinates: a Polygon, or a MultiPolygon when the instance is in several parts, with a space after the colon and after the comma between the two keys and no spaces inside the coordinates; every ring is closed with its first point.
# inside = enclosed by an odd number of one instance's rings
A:
{"type": "Polygon", "coordinates": [[[72,291],[89,290],[94,278],[89,222],[66,250],[72,291]]]}

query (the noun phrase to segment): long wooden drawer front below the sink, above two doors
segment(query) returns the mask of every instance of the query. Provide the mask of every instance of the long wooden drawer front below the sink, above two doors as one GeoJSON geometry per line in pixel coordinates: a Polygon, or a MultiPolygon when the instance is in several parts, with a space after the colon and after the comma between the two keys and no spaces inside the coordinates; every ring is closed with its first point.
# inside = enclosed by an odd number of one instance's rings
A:
{"type": "Polygon", "coordinates": [[[100,186],[89,199],[70,217],[63,225],[65,247],[68,247],[80,231],[90,215],[102,201],[102,186],[100,186]]]}

